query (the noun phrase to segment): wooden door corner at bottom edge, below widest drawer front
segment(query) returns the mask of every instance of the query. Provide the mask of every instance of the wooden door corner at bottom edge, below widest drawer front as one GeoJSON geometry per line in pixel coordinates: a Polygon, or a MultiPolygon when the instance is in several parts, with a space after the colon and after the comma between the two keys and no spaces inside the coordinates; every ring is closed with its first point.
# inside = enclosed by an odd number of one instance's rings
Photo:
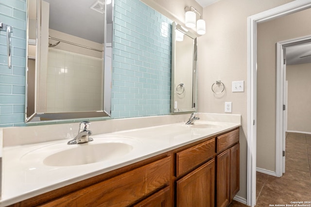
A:
{"type": "Polygon", "coordinates": [[[133,207],[170,207],[171,200],[170,187],[166,187],[165,189],[156,192],[145,200],[134,205],[133,207]]]}

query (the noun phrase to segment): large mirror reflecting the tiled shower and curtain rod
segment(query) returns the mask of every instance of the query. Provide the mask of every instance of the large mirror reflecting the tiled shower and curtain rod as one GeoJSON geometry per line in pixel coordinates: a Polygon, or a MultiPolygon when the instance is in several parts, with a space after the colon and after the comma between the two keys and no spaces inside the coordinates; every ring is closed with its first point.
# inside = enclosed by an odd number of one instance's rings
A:
{"type": "Polygon", "coordinates": [[[112,11],[105,0],[28,0],[26,122],[110,116],[112,11]]]}

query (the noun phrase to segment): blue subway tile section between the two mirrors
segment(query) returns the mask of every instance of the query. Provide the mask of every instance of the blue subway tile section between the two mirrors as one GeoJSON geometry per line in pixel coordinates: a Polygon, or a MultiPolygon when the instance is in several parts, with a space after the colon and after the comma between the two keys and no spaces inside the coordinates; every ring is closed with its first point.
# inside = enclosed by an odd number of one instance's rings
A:
{"type": "Polygon", "coordinates": [[[140,0],[115,0],[112,117],[170,113],[172,20],[140,0]]]}

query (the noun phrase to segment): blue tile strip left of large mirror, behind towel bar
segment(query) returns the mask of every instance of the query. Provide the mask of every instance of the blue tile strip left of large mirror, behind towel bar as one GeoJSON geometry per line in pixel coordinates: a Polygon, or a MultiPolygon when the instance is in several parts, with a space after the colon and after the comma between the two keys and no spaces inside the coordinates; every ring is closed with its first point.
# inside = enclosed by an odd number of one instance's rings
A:
{"type": "Polygon", "coordinates": [[[0,21],[13,27],[12,68],[7,67],[6,32],[0,32],[0,127],[24,122],[26,0],[0,0],[0,21]]]}

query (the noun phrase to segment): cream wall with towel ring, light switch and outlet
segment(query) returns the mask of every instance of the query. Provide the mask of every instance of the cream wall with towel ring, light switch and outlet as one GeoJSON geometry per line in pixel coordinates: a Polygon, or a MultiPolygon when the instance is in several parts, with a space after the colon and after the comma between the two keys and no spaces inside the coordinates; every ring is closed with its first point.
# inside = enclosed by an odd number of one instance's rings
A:
{"type": "MultiPolygon", "coordinates": [[[[207,33],[198,38],[198,110],[224,113],[232,101],[232,113],[242,114],[240,130],[240,191],[246,199],[247,178],[247,17],[292,0],[220,0],[203,10],[207,33]],[[211,85],[224,82],[226,91],[214,96],[211,85]],[[231,83],[244,80],[244,92],[232,93],[231,83]]],[[[275,56],[274,56],[275,57],[275,56]]]]}

